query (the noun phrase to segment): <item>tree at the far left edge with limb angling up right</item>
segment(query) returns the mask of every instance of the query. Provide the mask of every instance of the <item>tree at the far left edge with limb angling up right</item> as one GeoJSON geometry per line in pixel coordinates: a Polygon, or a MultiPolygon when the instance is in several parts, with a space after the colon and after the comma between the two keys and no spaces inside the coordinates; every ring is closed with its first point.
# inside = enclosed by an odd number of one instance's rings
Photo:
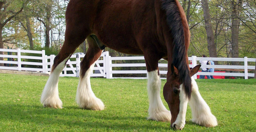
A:
{"type": "MultiPolygon", "coordinates": [[[[12,20],[12,18],[16,17],[17,14],[20,14],[22,10],[23,10],[23,5],[19,7],[19,4],[17,4],[17,1],[14,1],[14,2],[11,2],[9,0],[0,1],[0,49],[3,49],[3,36],[2,36],[3,27],[6,25],[6,23],[12,20]],[[13,4],[16,4],[16,5],[13,5],[13,4]]],[[[0,55],[3,55],[3,52],[0,52],[0,55]]],[[[3,60],[3,57],[0,57],[0,60],[3,60]]],[[[3,66],[3,63],[0,63],[0,66],[3,66]]]]}

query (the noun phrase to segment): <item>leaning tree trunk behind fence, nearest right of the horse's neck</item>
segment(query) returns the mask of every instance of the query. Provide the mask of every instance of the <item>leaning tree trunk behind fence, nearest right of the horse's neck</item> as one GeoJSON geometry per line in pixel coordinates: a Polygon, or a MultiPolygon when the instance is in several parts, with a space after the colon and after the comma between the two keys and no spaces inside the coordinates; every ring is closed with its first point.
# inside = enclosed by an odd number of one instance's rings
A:
{"type": "Polygon", "coordinates": [[[202,7],[204,11],[204,23],[205,23],[205,30],[207,34],[207,42],[208,42],[208,50],[210,57],[217,57],[216,46],[214,42],[214,35],[212,31],[212,23],[210,21],[211,17],[209,14],[209,6],[207,0],[202,0],[202,7]]]}

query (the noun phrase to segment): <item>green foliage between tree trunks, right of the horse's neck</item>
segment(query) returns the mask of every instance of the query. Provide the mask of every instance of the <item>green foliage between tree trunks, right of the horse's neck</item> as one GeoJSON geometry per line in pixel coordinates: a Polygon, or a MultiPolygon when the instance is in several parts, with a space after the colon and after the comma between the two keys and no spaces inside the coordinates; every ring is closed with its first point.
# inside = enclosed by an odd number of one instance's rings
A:
{"type": "MultiPolygon", "coordinates": [[[[231,57],[231,23],[232,0],[210,0],[209,11],[211,15],[212,30],[218,57],[231,57]]],[[[234,0],[238,1],[238,0],[234,0]]],[[[186,11],[186,8],[185,8],[186,11]]],[[[239,8],[241,20],[239,31],[239,57],[254,57],[256,53],[256,5],[253,1],[244,0],[239,8]]],[[[192,1],[189,17],[189,27],[192,28],[189,56],[208,55],[207,34],[204,25],[203,9],[200,1],[192,1]],[[199,23],[199,24],[198,24],[199,23]]]]}

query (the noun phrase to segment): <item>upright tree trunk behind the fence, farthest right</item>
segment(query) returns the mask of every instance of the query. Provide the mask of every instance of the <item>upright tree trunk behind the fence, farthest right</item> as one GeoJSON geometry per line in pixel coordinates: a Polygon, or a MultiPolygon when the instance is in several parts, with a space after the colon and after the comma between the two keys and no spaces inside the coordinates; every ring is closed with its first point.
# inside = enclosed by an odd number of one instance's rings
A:
{"type": "MultiPolygon", "coordinates": [[[[233,58],[239,57],[239,46],[238,46],[238,38],[239,38],[239,4],[242,2],[242,0],[232,0],[231,4],[233,6],[233,11],[231,14],[232,17],[232,23],[231,23],[231,56],[233,58]]],[[[239,65],[239,62],[232,62],[232,65],[239,65]]]]}

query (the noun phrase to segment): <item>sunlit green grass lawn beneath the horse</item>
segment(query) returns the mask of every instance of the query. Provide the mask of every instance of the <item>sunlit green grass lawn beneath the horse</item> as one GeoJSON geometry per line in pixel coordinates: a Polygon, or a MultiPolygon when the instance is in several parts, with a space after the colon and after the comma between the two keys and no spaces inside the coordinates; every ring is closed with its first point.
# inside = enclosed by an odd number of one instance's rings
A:
{"type": "MultiPolygon", "coordinates": [[[[147,80],[91,78],[95,95],[105,103],[105,110],[93,111],[77,106],[76,77],[60,77],[63,109],[44,108],[40,103],[48,77],[11,74],[0,74],[0,77],[0,132],[174,131],[168,122],[146,120],[147,80]]],[[[192,123],[188,107],[184,132],[255,132],[255,79],[196,81],[218,119],[218,126],[207,128],[192,123]]],[[[165,82],[162,80],[162,87],[165,82]]],[[[167,106],[162,93],[161,97],[167,106]]]]}

